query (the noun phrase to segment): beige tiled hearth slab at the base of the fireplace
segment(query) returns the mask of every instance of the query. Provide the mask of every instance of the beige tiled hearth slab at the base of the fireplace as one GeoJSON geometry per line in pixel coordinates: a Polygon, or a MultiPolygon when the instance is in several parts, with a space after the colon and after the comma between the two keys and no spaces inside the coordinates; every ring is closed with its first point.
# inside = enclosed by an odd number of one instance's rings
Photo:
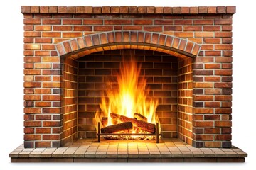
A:
{"type": "Polygon", "coordinates": [[[154,141],[78,140],[69,147],[24,148],[9,154],[11,162],[245,162],[237,147],[195,148],[178,139],[154,141]]]}

